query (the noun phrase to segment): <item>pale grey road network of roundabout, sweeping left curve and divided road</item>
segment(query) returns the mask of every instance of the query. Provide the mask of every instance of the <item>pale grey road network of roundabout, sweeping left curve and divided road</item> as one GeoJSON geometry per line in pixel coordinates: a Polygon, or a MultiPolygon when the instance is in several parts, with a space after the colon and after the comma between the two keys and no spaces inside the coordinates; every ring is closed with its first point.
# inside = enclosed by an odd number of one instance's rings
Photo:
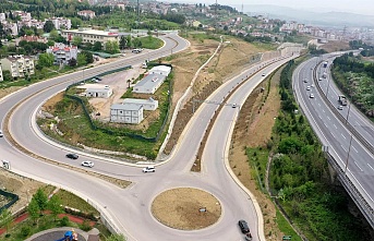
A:
{"type": "MultiPolygon", "coordinates": [[[[152,52],[153,59],[159,58],[158,55],[167,55],[171,53],[171,51],[177,52],[188,47],[188,43],[177,35],[169,35],[164,37],[164,39],[166,46],[160,50],[152,52]],[[177,46],[176,43],[178,43],[177,46]]],[[[185,128],[182,134],[183,138],[178,143],[176,152],[167,161],[157,166],[157,171],[154,173],[143,173],[141,167],[128,165],[121,160],[97,157],[92,154],[70,149],[45,137],[35,123],[38,108],[46,99],[63,91],[69,84],[80,81],[83,73],[74,73],[38,83],[1,99],[0,118],[2,123],[4,124],[4,117],[8,111],[16,106],[8,123],[9,132],[17,143],[17,147],[22,146],[22,148],[27,149],[33,155],[25,155],[24,152],[13,147],[13,144],[7,142],[5,138],[0,141],[0,155],[3,159],[11,162],[13,171],[63,188],[87,200],[88,203],[101,213],[106,220],[112,224],[112,229],[124,233],[131,241],[176,239],[181,241],[243,240],[243,234],[240,233],[238,227],[239,219],[246,219],[249,221],[254,241],[265,240],[262,229],[262,214],[256,210],[248,191],[238,185],[238,182],[236,182],[227,169],[225,161],[226,146],[229,143],[230,130],[232,130],[236,115],[238,115],[240,105],[245,99],[245,96],[267,74],[295,56],[261,63],[262,68],[265,69],[245,82],[231,96],[229,103],[222,104],[225,107],[210,133],[210,136],[216,137],[209,137],[208,140],[201,173],[192,173],[190,169],[194,162],[203,134],[218,105],[203,104],[201,106],[185,128]],[[17,106],[17,104],[20,105],[17,106]],[[238,108],[232,108],[232,104],[237,104],[238,108]],[[65,158],[65,154],[71,152],[80,155],[80,161],[65,158]],[[80,166],[82,161],[94,161],[95,167],[92,169],[93,171],[129,180],[132,184],[126,189],[121,189],[89,176],[89,172],[77,172],[51,165],[41,161],[40,157],[69,164],[74,168],[82,168],[80,166]],[[150,214],[153,200],[160,192],[179,186],[197,188],[214,194],[222,206],[222,216],[219,221],[212,227],[194,231],[177,230],[158,222],[150,214]],[[261,224],[258,224],[258,220],[261,224]]],[[[94,76],[99,72],[107,71],[109,68],[141,63],[144,61],[144,58],[149,59],[144,55],[137,55],[111,63],[111,65],[84,70],[84,75],[94,76]]],[[[258,71],[258,65],[253,67],[226,82],[209,97],[209,100],[221,101],[238,83],[258,71]]]]}

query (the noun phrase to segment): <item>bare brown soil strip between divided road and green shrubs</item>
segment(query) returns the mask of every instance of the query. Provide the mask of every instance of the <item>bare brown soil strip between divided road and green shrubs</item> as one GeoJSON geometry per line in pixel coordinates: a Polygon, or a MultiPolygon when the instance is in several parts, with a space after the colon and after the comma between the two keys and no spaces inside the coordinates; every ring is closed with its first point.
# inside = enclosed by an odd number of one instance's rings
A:
{"type": "Polygon", "coordinates": [[[236,176],[256,196],[264,215],[265,236],[269,240],[278,240],[282,236],[276,224],[276,207],[268,195],[258,190],[245,148],[266,148],[266,143],[270,140],[275,118],[280,109],[279,75],[280,71],[274,75],[272,82],[266,80],[260,84],[244,103],[234,128],[229,156],[230,167],[236,176]],[[269,83],[270,92],[265,100],[269,83]]]}

